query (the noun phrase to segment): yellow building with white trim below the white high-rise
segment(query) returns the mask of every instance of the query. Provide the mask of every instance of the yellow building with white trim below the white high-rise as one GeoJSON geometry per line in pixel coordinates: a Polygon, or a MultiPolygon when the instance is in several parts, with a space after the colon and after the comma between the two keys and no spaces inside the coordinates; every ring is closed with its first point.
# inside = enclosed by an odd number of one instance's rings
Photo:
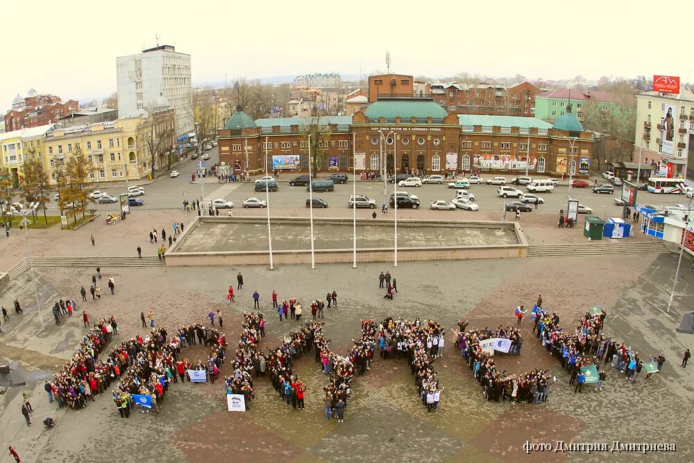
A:
{"type": "Polygon", "coordinates": [[[44,167],[52,184],[56,170],[64,167],[78,150],[92,163],[89,180],[94,183],[146,178],[164,165],[173,153],[174,110],[160,110],[150,116],[137,110],[128,117],[87,126],[56,128],[46,135],[44,167]],[[158,139],[162,138],[162,142],[158,139]],[[152,158],[149,147],[158,146],[152,158]],[[154,169],[153,169],[154,167],[154,169]]]}

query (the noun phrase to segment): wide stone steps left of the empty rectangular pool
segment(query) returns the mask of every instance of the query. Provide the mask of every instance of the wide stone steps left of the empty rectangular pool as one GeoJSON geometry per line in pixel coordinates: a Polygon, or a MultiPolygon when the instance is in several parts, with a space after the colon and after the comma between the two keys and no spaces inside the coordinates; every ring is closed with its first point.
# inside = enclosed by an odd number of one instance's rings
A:
{"type": "MultiPolygon", "coordinates": [[[[123,256],[93,256],[93,257],[45,257],[31,258],[31,263],[36,269],[53,269],[66,267],[101,267],[112,268],[140,268],[140,267],[164,267],[166,261],[155,257],[131,258],[123,256]]],[[[29,260],[24,258],[8,270],[10,280],[17,278],[29,269],[29,260]]]]}

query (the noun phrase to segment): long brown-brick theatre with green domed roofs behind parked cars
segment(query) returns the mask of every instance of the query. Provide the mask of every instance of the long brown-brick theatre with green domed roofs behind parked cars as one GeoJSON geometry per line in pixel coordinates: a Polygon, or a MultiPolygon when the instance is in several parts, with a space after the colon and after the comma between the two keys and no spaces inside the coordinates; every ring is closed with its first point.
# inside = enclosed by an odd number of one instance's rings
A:
{"type": "Polygon", "coordinates": [[[323,171],[480,170],[588,176],[593,136],[570,112],[555,124],[531,117],[457,115],[433,99],[381,98],[346,117],[287,117],[253,121],[237,110],[219,131],[220,161],[228,169],[266,166],[305,172],[310,126],[329,126],[323,171]]]}

